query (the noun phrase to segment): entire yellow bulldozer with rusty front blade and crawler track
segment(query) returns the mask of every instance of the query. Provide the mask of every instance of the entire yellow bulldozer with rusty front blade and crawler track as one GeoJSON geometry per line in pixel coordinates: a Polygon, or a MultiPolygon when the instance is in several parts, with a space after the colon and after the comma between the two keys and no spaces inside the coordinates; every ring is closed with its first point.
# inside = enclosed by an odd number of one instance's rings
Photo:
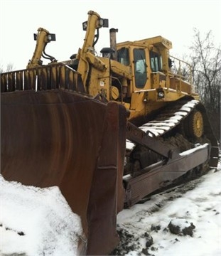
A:
{"type": "Polygon", "coordinates": [[[81,217],[86,255],[114,250],[123,208],[218,162],[190,65],[166,38],[117,43],[116,28],[97,55],[108,23],[89,11],[82,47],[65,61],[45,53],[55,34],[38,28],[26,69],[1,74],[1,174],[58,186],[81,217]]]}

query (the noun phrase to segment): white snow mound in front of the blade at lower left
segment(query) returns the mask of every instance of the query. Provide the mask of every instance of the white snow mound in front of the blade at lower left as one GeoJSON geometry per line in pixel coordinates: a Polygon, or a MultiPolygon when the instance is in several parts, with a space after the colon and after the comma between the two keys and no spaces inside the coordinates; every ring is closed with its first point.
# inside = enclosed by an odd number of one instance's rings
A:
{"type": "Polygon", "coordinates": [[[58,187],[0,182],[0,255],[77,255],[80,217],[58,187]]]}

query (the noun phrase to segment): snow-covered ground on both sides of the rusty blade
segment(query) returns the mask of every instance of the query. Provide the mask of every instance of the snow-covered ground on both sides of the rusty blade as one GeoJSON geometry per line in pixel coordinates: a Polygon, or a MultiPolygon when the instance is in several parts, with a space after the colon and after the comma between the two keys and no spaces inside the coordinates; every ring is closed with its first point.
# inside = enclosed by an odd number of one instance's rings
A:
{"type": "MultiPolygon", "coordinates": [[[[72,213],[58,187],[23,186],[1,175],[0,181],[1,256],[78,255],[80,217],[72,213]]],[[[220,195],[219,165],[217,171],[122,210],[117,228],[124,235],[114,255],[220,256],[220,195]],[[169,223],[179,227],[178,234],[169,223]],[[191,225],[193,233],[185,235],[183,229],[191,225]]]]}

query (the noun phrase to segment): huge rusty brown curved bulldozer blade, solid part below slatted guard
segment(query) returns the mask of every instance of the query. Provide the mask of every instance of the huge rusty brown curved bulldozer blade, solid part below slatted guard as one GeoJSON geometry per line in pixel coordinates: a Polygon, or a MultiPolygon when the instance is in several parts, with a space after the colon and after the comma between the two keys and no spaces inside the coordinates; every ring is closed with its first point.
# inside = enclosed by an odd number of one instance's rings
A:
{"type": "Polygon", "coordinates": [[[68,90],[1,93],[1,174],[7,181],[58,186],[82,218],[87,255],[117,246],[126,110],[68,90]]]}

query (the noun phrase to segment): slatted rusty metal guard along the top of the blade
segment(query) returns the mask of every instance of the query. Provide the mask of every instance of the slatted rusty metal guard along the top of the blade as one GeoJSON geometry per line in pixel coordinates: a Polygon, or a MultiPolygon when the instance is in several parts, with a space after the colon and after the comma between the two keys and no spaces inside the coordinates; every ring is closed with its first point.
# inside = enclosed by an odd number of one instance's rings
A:
{"type": "Polygon", "coordinates": [[[63,63],[1,74],[1,92],[53,89],[85,92],[80,74],[63,63]]]}

